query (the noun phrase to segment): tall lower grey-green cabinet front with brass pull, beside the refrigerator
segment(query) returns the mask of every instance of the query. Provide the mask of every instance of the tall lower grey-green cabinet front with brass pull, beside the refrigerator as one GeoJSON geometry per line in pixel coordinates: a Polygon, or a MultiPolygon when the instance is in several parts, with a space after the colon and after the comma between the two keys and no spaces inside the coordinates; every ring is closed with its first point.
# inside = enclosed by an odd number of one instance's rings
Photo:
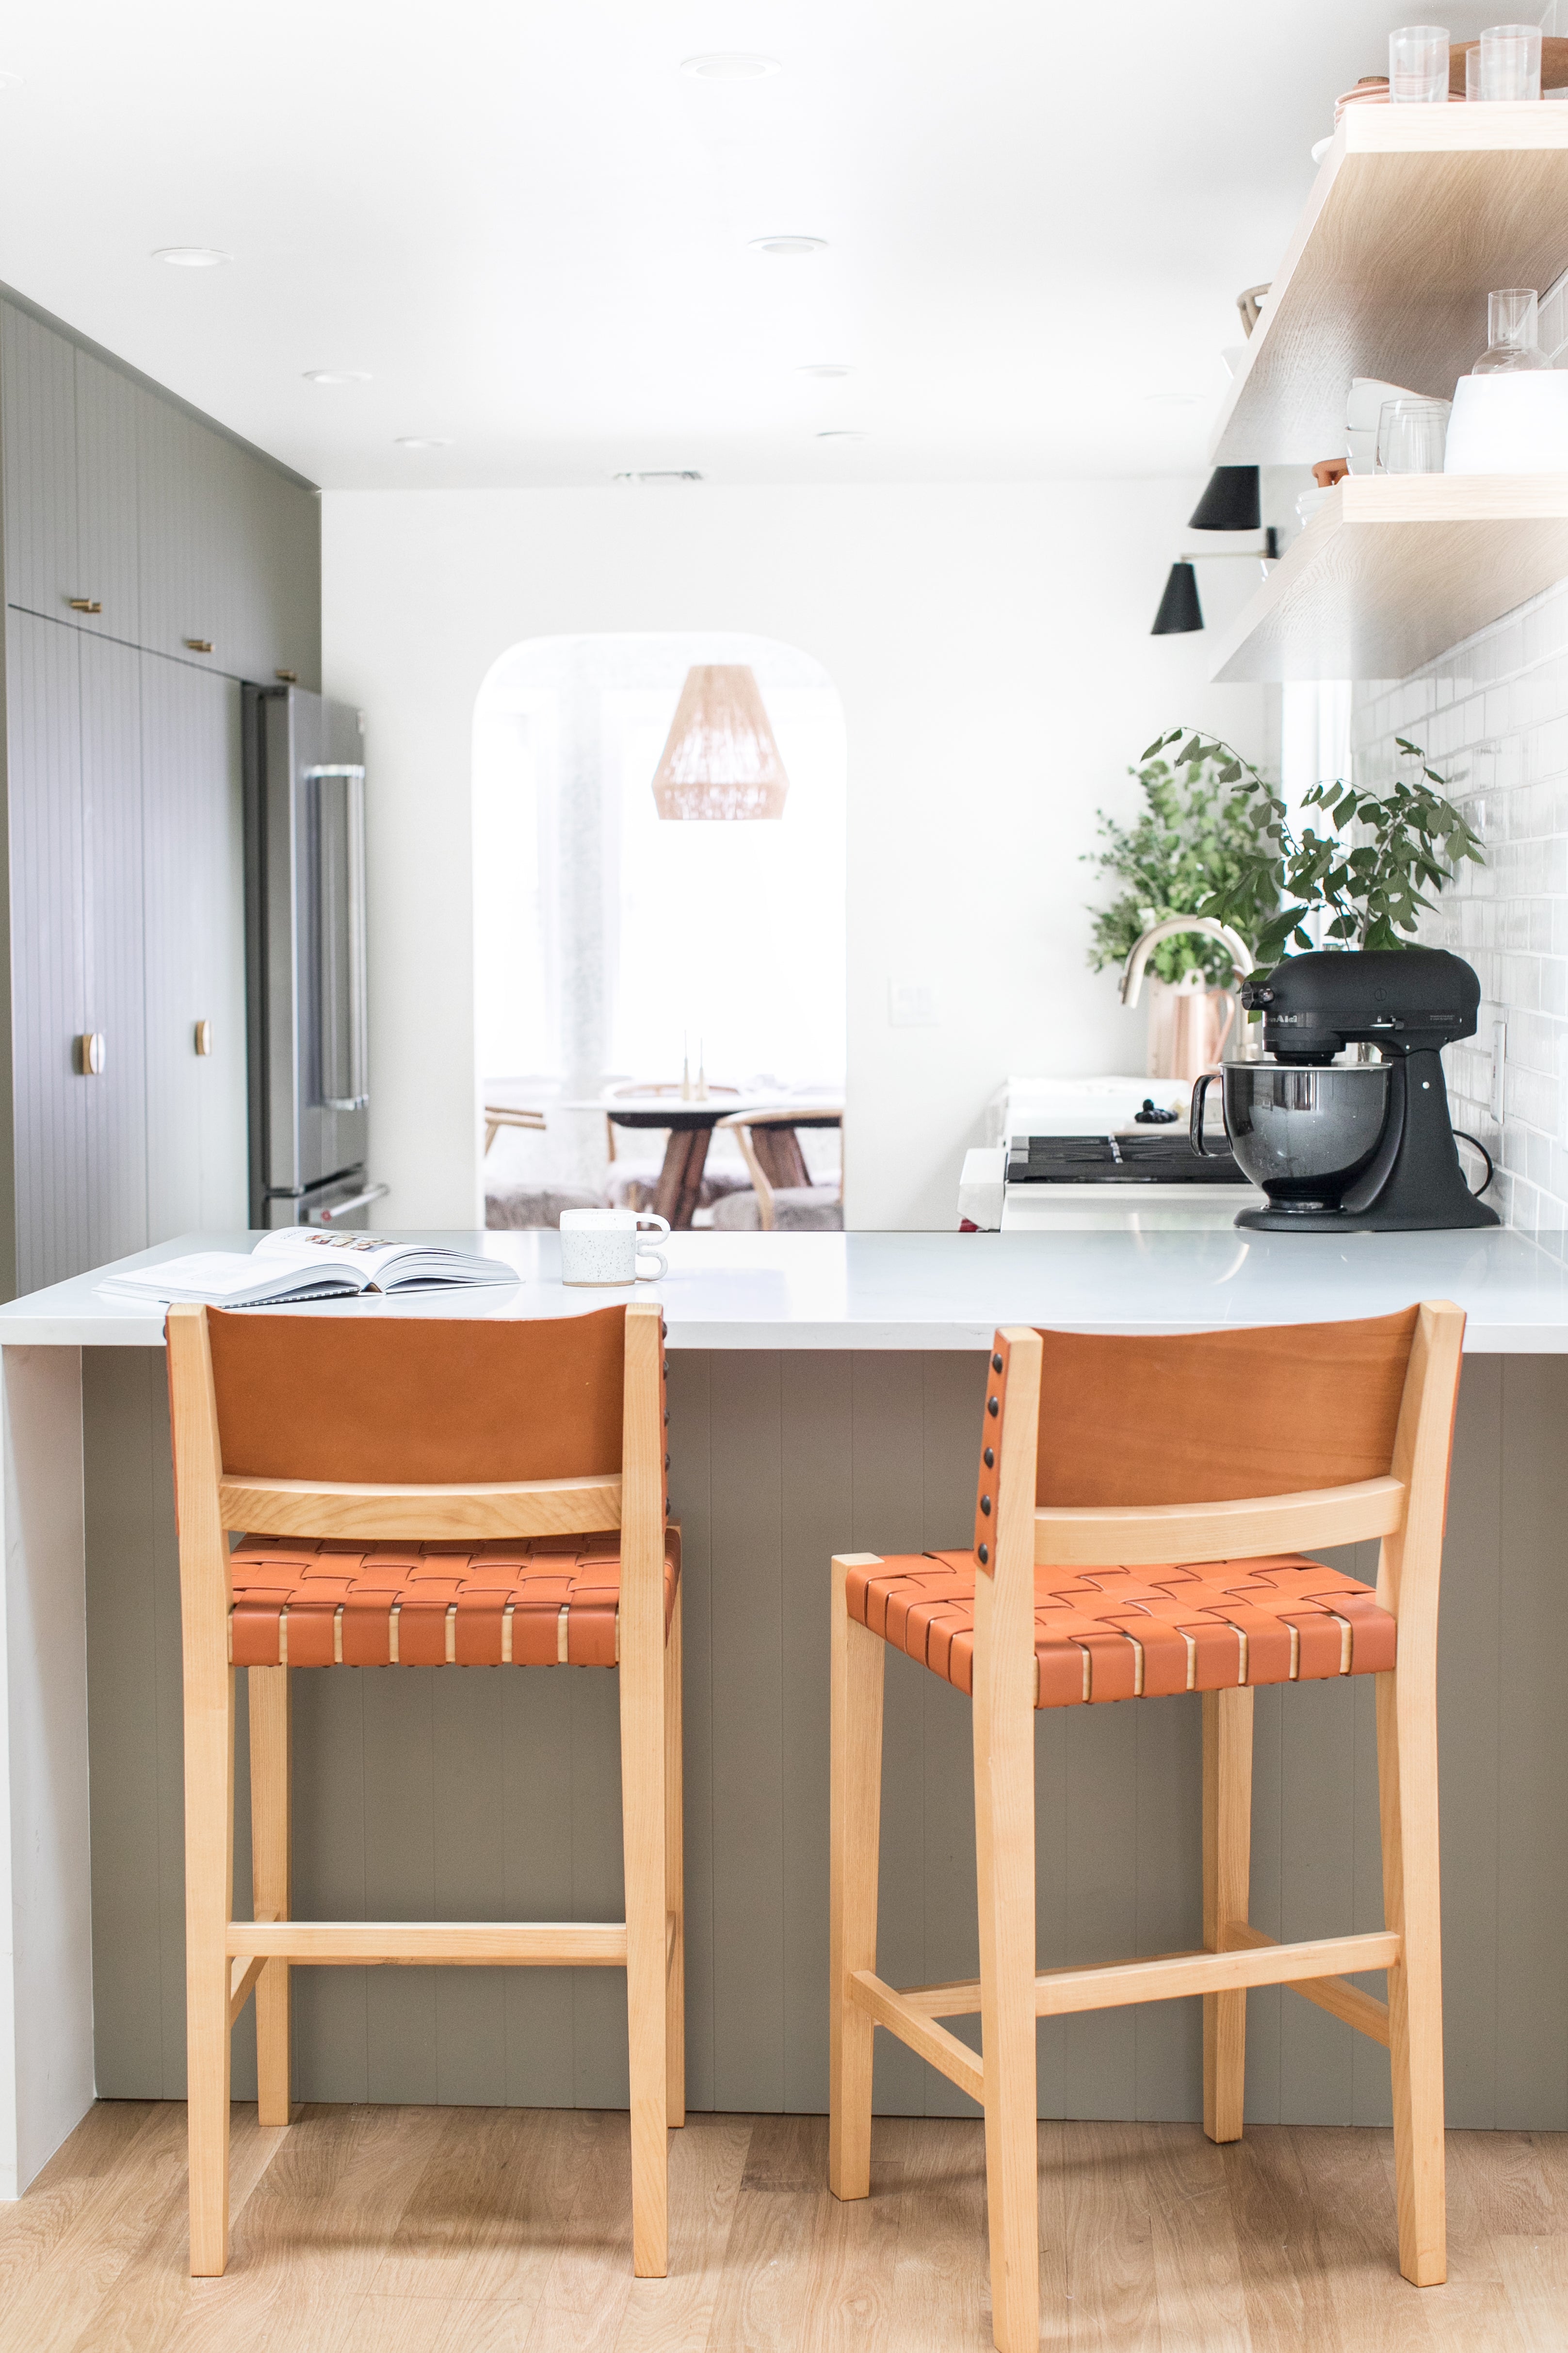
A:
{"type": "Polygon", "coordinates": [[[141,656],[148,1219],[247,1224],[240,687],[141,656]]]}

